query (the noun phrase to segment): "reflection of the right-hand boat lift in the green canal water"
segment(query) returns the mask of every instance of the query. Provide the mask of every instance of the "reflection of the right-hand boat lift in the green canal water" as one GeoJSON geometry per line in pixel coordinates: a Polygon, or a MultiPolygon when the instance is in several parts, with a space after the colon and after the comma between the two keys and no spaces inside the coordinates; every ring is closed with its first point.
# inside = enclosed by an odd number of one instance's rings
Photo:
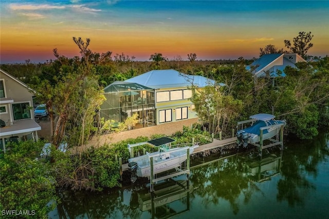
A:
{"type": "Polygon", "coordinates": [[[270,154],[268,157],[264,157],[261,160],[248,158],[241,156],[245,160],[242,165],[242,172],[245,176],[251,176],[255,178],[257,182],[264,182],[270,179],[270,177],[281,173],[282,152],[280,156],[276,154],[270,154]]]}

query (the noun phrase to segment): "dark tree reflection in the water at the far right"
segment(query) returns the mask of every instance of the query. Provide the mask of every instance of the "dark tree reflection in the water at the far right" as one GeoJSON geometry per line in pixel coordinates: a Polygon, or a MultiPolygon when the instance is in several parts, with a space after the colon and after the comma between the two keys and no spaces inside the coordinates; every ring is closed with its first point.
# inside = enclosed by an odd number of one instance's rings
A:
{"type": "Polygon", "coordinates": [[[323,161],[325,154],[325,138],[320,134],[312,140],[302,143],[290,143],[283,154],[284,165],[282,170],[282,179],[278,183],[277,200],[287,201],[289,206],[304,206],[304,199],[310,190],[316,189],[315,186],[307,181],[307,175],[317,177],[317,165],[323,161]]]}

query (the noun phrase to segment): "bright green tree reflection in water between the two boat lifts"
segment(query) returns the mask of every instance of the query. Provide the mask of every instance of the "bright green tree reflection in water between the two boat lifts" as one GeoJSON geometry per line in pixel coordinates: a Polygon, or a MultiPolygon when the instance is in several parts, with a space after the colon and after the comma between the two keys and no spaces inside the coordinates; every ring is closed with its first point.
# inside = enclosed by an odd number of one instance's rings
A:
{"type": "Polygon", "coordinates": [[[248,178],[243,177],[238,169],[239,160],[230,157],[193,170],[190,180],[193,185],[198,185],[195,192],[203,197],[205,207],[218,205],[220,198],[223,198],[230,203],[233,213],[237,214],[239,204],[236,201],[242,192],[246,195],[245,203],[249,202],[252,190],[258,190],[258,187],[249,183],[248,178]]]}

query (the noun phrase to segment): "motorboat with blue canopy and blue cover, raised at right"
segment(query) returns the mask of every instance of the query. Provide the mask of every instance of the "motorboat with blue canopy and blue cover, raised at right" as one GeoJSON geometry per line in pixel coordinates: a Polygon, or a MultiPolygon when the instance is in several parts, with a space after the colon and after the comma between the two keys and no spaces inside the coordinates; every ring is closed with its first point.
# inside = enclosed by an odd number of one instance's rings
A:
{"type": "Polygon", "coordinates": [[[238,125],[250,123],[251,126],[236,132],[237,145],[247,147],[248,144],[255,145],[260,141],[267,140],[279,134],[282,126],[286,125],[284,120],[275,120],[275,115],[260,113],[250,116],[250,120],[239,122],[238,125]],[[261,137],[262,136],[262,137],[261,137]]]}

